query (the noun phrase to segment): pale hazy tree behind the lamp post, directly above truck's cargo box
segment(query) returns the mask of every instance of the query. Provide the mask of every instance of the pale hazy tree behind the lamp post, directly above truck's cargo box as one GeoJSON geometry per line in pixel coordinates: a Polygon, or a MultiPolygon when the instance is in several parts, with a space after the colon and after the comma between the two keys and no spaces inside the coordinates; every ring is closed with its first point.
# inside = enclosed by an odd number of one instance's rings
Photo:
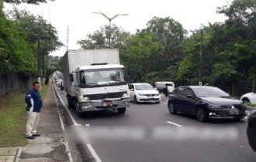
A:
{"type": "MultiPolygon", "coordinates": [[[[130,37],[129,32],[124,32],[122,28],[116,25],[111,27],[111,48],[122,49],[126,44],[127,39],[130,37]]],[[[106,49],[109,48],[109,25],[102,26],[99,30],[88,34],[87,39],[78,41],[78,44],[83,49],[106,49]]]]}

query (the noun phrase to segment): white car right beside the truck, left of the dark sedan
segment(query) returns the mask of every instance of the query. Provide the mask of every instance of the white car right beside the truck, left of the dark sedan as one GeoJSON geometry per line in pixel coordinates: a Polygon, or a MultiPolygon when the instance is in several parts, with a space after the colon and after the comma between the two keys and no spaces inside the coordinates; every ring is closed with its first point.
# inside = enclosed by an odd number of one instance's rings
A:
{"type": "Polygon", "coordinates": [[[134,103],[160,103],[159,92],[149,83],[131,83],[129,93],[134,103]]]}

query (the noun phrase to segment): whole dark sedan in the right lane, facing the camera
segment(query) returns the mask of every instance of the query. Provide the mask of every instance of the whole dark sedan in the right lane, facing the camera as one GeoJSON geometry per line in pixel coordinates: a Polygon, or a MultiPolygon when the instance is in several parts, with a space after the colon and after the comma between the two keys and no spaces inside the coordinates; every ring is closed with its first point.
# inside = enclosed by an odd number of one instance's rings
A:
{"type": "Polygon", "coordinates": [[[169,95],[168,110],[196,116],[203,122],[212,119],[244,118],[245,107],[240,100],[231,97],[214,86],[180,86],[169,95]]]}

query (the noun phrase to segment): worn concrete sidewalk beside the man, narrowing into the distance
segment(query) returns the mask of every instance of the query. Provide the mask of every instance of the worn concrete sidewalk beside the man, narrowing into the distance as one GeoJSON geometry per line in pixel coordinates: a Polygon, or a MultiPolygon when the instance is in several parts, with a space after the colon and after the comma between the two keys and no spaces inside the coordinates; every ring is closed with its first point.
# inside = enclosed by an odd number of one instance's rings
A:
{"type": "Polygon", "coordinates": [[[37,133],[40,133],[41,136],[36,137],[34,140],[29,140],[29,144],[24,147],[1,148],[1,162],[69,161],[54,100],[54,93],[50,86],[43,100],[40,124],[37,128],[37,133]]]}

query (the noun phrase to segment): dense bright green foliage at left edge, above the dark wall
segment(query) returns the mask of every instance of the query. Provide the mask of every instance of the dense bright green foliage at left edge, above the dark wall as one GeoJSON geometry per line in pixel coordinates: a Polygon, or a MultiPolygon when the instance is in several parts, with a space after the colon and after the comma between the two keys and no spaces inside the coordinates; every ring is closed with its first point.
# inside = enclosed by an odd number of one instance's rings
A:
{"type": "Polygon", "coordinates": [[[35,73],[35,56],[26,39],[15,22],[0,15],[0,73],[35,73]]]}

